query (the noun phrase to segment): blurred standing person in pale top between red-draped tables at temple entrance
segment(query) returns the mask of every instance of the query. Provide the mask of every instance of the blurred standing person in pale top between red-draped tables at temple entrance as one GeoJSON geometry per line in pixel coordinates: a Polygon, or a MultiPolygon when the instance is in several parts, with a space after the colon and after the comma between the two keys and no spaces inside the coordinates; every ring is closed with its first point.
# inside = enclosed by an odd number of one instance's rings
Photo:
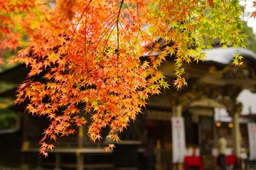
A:
{"type": "Polygon", "coordinates": [[[223,135],[220,135],[218,139],[218,165],[222,170],[227,170],[227,165],[225,162],[225,153],[227,149],[227,140],[223,135]]]}

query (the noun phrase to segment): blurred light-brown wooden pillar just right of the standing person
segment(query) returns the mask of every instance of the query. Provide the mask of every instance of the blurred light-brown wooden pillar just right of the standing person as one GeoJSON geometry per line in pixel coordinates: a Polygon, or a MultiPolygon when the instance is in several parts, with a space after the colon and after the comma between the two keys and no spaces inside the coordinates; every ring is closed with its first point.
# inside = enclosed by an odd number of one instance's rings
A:
{"type": "Polygon", "coordinates": [[[233,150],[234,154],[240,158],[240,125],[239,125],[240,113],[235,112],[233,114],[233,150]]]}

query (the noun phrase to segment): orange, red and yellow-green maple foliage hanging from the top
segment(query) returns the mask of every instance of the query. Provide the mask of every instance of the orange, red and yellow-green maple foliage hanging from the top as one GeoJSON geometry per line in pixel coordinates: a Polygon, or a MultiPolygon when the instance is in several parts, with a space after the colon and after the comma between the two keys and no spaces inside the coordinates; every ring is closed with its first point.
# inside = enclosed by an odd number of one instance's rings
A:
{"type": "Polygon", "coordinates": [[[158,69],[166,57],[175,56],[181,88],[184,63],[203,60],[216,39],[224,47],[243,47],[245,39],[238,0],[0,0],[0,11],[0,48],[27,42],[12,60],[31,69],[15,102],[49,118],[45,156],[58,137],[86,123],[82,113],[91,115],[92,141],[107,127],[118,142],[149,96],[168,87],[158,69]]]}

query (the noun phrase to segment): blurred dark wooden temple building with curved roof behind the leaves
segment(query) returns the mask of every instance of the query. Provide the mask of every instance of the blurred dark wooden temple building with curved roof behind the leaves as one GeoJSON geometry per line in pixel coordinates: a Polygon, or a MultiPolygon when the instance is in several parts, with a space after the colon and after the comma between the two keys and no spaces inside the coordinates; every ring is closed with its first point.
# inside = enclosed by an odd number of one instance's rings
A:
{"type": "MultiPolygon", "coordinates": [[[[107,153],[104,149],[107,141],[92,143],[85,125],[74,135],[61,137],[49,157],[42,157],[38,153],[38,142],[48,119],[33,117],[24,111],[26,104],[14,106],[12,102],[16,87],[26,79],[29,69],[20,64],[0,72],[0,167],[168,170],[197,166],[215,169],[219,134],[228,140],[229,165],[247,166],[248,152],[252,149],[247,124],[256,120],[256,108],[253,108],[256,55],[239,49],[243,64],[235,67],[232,62],[237,49],[214,47],[205,52],[204,62],[186,64],[188,86],[181,89],[171,86],[163,89],[159,96],[152,96],[144,113],[121,134],[122,141],[107,153]],[[182,120],[183,126],[174,126],[172,118],[182,120]],[[182,159],[176,161],[175,135],[181,134],[176,134],[174,128],[179,127],[178,130],[184,132],[181,140],[186,148],[181,151],[184,152],[182,159]]],[[[173,84],[174,57],[160,69],[169,84],[173,84]]]]}

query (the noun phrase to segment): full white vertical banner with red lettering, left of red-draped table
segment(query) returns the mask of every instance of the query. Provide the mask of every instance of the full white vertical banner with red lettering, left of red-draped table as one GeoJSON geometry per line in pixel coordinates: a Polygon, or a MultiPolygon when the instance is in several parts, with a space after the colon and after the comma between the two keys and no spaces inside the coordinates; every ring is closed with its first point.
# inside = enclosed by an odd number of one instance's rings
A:
{"type": "Polygon", "coordinates": [[[171,118],[173,163],[183,163],[186,152],[184,120],[182,117],[171,118]]]}

